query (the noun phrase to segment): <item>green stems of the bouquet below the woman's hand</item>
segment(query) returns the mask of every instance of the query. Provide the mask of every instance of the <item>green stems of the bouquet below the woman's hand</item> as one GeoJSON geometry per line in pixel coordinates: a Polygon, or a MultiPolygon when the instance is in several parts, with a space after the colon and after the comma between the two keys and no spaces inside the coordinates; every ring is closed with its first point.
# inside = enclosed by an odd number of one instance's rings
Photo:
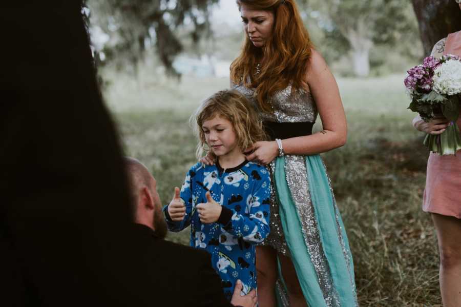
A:
{"type": "Polygon", "coordinates": [[[456,155],[456,151],[461,149],[461,136],[459,135],[458,125],[452,122],[442,134],[426,135],[423,144],[434,153],[456,155]]]}

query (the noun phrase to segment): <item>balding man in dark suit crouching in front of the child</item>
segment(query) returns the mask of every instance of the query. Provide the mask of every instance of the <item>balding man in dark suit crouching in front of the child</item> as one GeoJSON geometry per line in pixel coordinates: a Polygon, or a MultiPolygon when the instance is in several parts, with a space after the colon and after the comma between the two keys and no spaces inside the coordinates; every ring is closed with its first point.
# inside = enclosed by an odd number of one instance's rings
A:
{"type": "MultiPolygon", "coordinates": [[[[159,301],[168,306],[253,307],[256,292],[240,296],[242,283],[236,285],[231,303],[221,288],[221,279],[211,265],[211,256],[194,248],[165,241],[166,222],[154,177],[138,160],[126,158],[132,182],[135,240],[142,246],[138,261],[144,270],[154,272],[152,285],[159,301]]],[[[152,291],[151,293],[154,293],[152,291]]]]}

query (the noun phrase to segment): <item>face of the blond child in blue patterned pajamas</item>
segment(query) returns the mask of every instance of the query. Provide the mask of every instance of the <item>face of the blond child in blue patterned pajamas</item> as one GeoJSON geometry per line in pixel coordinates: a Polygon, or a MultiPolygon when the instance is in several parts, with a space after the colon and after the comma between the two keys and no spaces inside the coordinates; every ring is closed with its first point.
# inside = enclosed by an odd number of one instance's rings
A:
{"type": "Polygon", "coordinates": [[[202,124],[205,141],[217,157],[241,154],[232,122],[220,116],[207,119],[202,124]]]}

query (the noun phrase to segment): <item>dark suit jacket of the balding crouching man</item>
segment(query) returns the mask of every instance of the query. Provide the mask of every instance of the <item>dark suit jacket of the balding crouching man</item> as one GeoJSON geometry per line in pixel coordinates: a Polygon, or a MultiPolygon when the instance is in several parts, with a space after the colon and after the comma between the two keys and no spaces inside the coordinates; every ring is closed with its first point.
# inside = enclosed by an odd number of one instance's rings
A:
{"type": "Polygon", "coordinates": [[[152,284],[158,306],[230,307],[224,297],[221,279],[204,252],[155,237],[154,232],[135,224],[141,247],[140,261],[146,270],[155,271],[152,284]],[[161,303],[160,303],[161,302],[161,303]]]}

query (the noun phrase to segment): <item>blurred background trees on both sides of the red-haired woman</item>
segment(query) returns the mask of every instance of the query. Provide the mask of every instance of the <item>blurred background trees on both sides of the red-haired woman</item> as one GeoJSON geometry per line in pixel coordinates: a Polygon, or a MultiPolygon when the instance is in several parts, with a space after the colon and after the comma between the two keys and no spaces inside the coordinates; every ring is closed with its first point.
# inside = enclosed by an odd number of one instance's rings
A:
{"type": "MultiPolygon", "coordinates": [[[[123,67],[129,60],[130,67],[136,70],[145,52],[155,49],[166,72],[178,75],[172,66],[175,56],[190,48],[191,42],[195,46],[200,40],[211,41],[213,33],[208,18],[219,0],[84,2],[89,8],[91,29],[108,37],[102,47],[95,48],[104,54],[107,62],[123,67]]],[[[453,0],[297,2],[317,48],[330,63],[341,59],[346,64],[340,71],[343,74],[366,76],[370,68],[380,67],[392,71],[392,65],[399,68],[408,60],[422,57],[421,41],[415,35],[418,25],[426,54],[438,39],[461,28],[461,13],[453,0]]],[[[229,35],[226,39],[232,38],[238,44],[239,36],[229,35]]],[[[228,50],[227,43],[222,45],[208,44],[197,48],[197,52],[228,50]]]]}

